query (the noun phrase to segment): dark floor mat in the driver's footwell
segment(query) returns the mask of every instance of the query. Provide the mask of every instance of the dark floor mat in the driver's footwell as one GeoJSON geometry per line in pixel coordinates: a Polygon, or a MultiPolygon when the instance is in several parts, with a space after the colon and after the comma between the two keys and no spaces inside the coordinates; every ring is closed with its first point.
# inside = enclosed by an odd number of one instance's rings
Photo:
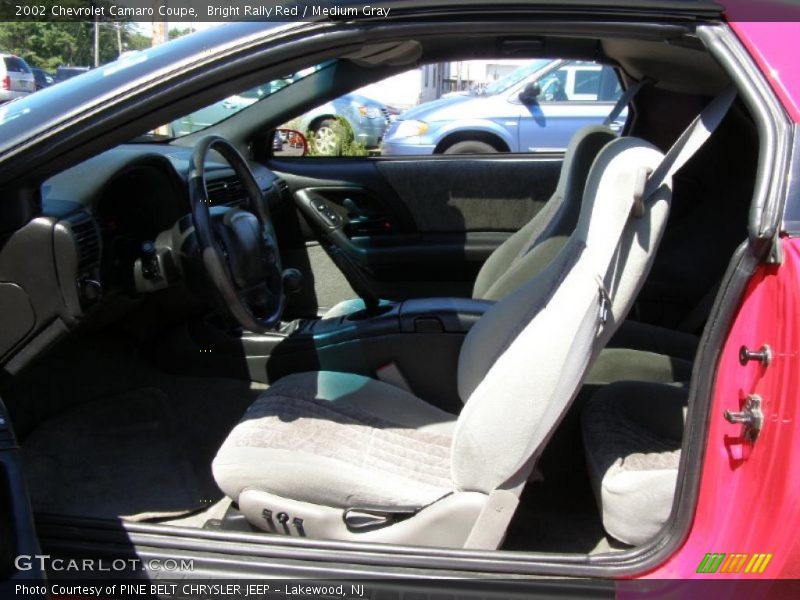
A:
{"type": "Polygon", "coordinates": [[[49,419],[22,446],[36,512],[145,520],[207,508],[220,492],[191,460],[169,397],[143,388],[49,419]]]}

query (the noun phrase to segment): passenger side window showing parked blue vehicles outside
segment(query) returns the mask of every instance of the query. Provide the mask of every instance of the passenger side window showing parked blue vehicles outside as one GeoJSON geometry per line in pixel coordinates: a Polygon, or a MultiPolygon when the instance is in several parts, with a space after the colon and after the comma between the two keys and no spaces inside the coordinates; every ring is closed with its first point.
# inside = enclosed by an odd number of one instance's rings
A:
{"type": "MultiPolygon", "coordinates": [[[[552,151],[602,123],[621,92],[616,71],[593,62],[437,63],[325,102],[282,129],[306,137],[310,160],[552,151]]],[[[296,156],[280,136],[273,151],[296,156]]]]}

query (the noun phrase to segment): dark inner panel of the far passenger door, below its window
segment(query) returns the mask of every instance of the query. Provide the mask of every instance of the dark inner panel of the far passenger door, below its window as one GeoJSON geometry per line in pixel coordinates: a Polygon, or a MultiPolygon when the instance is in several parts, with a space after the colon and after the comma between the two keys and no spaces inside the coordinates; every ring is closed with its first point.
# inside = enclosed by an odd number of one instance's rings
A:
{"type": "Polygon", "coordinates": [[[486,258],[550,198],[562,160],[549,154],[272,161],[268,166],[301,207],[276,223],[285,266],[305,275],[290,314],[312,316],[354,297],[358,286],[322,251],[326,244],[345,254],[382,298],[471,295],[486,258]]]}

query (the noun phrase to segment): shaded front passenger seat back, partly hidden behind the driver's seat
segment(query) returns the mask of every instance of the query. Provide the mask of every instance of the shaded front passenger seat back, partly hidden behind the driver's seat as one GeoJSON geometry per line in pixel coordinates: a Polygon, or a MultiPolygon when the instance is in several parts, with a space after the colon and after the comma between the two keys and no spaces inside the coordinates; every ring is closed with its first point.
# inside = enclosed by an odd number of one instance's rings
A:
{"type": "Polygon", "coordinates": [[[584,127],[572,136],[553,195],[535,217],[492,252],[475,280],[473,298],[500,300],[553,260],[578,223],[589,168],[616,137],[602,125],[584,127]]]}

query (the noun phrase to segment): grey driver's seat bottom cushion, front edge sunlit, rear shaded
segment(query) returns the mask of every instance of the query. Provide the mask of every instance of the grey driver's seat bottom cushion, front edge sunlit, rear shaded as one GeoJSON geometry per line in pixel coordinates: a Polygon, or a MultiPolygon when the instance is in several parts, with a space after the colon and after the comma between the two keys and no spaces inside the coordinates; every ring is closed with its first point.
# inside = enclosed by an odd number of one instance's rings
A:
{"type": "Polygon", "coordinates": [[[247,410],[213,463],[234,501],[260,490],[339,508],[426,506],[453,491],[456,416],[351,373],[297,373],[247,410]]]}

